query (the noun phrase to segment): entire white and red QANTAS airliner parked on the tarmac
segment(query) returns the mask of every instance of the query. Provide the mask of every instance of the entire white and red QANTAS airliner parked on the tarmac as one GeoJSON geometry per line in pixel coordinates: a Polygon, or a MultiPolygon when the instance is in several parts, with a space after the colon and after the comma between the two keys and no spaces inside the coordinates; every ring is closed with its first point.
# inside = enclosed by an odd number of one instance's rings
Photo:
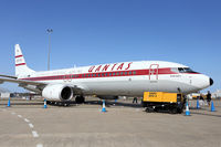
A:
{"type": "Polygon", "coordinates": [[[84,96],[99,98],[143,96],[144,92],[181,92],[189,94],[213,84],[212,78],[190,67],[164,61],[133,61],[35,72],[28,67],[15,44],[15,76],[0,75],[0,83],[12,82],[46,99],[62,102],[84,96]]]}

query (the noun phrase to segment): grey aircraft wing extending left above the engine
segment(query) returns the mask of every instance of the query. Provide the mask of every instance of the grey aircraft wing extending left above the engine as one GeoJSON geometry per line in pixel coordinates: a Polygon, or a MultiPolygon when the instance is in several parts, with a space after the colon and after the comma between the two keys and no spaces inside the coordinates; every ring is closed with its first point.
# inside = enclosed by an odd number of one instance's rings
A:
{"type": "Polygon", "coordinates": [[[27,84],[27,85],[35,85],[35,86],[48,85],[46,83],[42,83],[42,82],[24,81],[24,80],[14,80],[14,78],[1,78],[1,77],[0,77],[0,84],[2,84],[2,83],[4,83],[4,82],[11,82],[11,83],[18,83],[18,84],[27,84]]]}

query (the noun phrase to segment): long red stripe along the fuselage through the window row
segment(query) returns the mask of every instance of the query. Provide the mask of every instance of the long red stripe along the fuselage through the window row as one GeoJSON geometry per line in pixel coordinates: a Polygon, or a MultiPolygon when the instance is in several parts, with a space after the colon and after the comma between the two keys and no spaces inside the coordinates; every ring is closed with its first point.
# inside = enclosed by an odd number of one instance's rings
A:
{"type": "MultiPolygon", "coordinates": [[[[136,75],[149,75],[152,70],[129,70],[129,71],[115,71],[115,72],[97,72],[97,73],[83,73],[83,74],[66,74],[66,75],[55,75],[55,76],[40,76],[40,77],[28,77],[22,80],[29,81],[52,81],[52,80],[75,80],[75,78],[96,78],[96,77],[118,77],[118,76],[136,76],[136,75]]],[[[161,74],[179,74],[172,72],[170,67],[158,69],[151,75],[161,75],[161,74]]],[[[192,74],[192,73],[183,73],[192,74]]],[[[199,74],[199,73],[194,73],[199,74]]]]}

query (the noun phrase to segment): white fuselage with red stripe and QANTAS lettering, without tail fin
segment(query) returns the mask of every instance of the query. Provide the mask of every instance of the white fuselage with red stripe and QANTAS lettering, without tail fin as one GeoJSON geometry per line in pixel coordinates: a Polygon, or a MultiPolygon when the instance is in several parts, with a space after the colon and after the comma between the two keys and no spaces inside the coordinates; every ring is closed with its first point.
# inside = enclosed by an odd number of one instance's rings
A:
{"type": "Polygon", "coordinates": [[[143,96],[144,92],[157,91],[188,94],[210,86],[209,76],[188,69],[172,62],[140,61],[35,72],[19,78],[77,86],[84,95],[143,96]]]}

